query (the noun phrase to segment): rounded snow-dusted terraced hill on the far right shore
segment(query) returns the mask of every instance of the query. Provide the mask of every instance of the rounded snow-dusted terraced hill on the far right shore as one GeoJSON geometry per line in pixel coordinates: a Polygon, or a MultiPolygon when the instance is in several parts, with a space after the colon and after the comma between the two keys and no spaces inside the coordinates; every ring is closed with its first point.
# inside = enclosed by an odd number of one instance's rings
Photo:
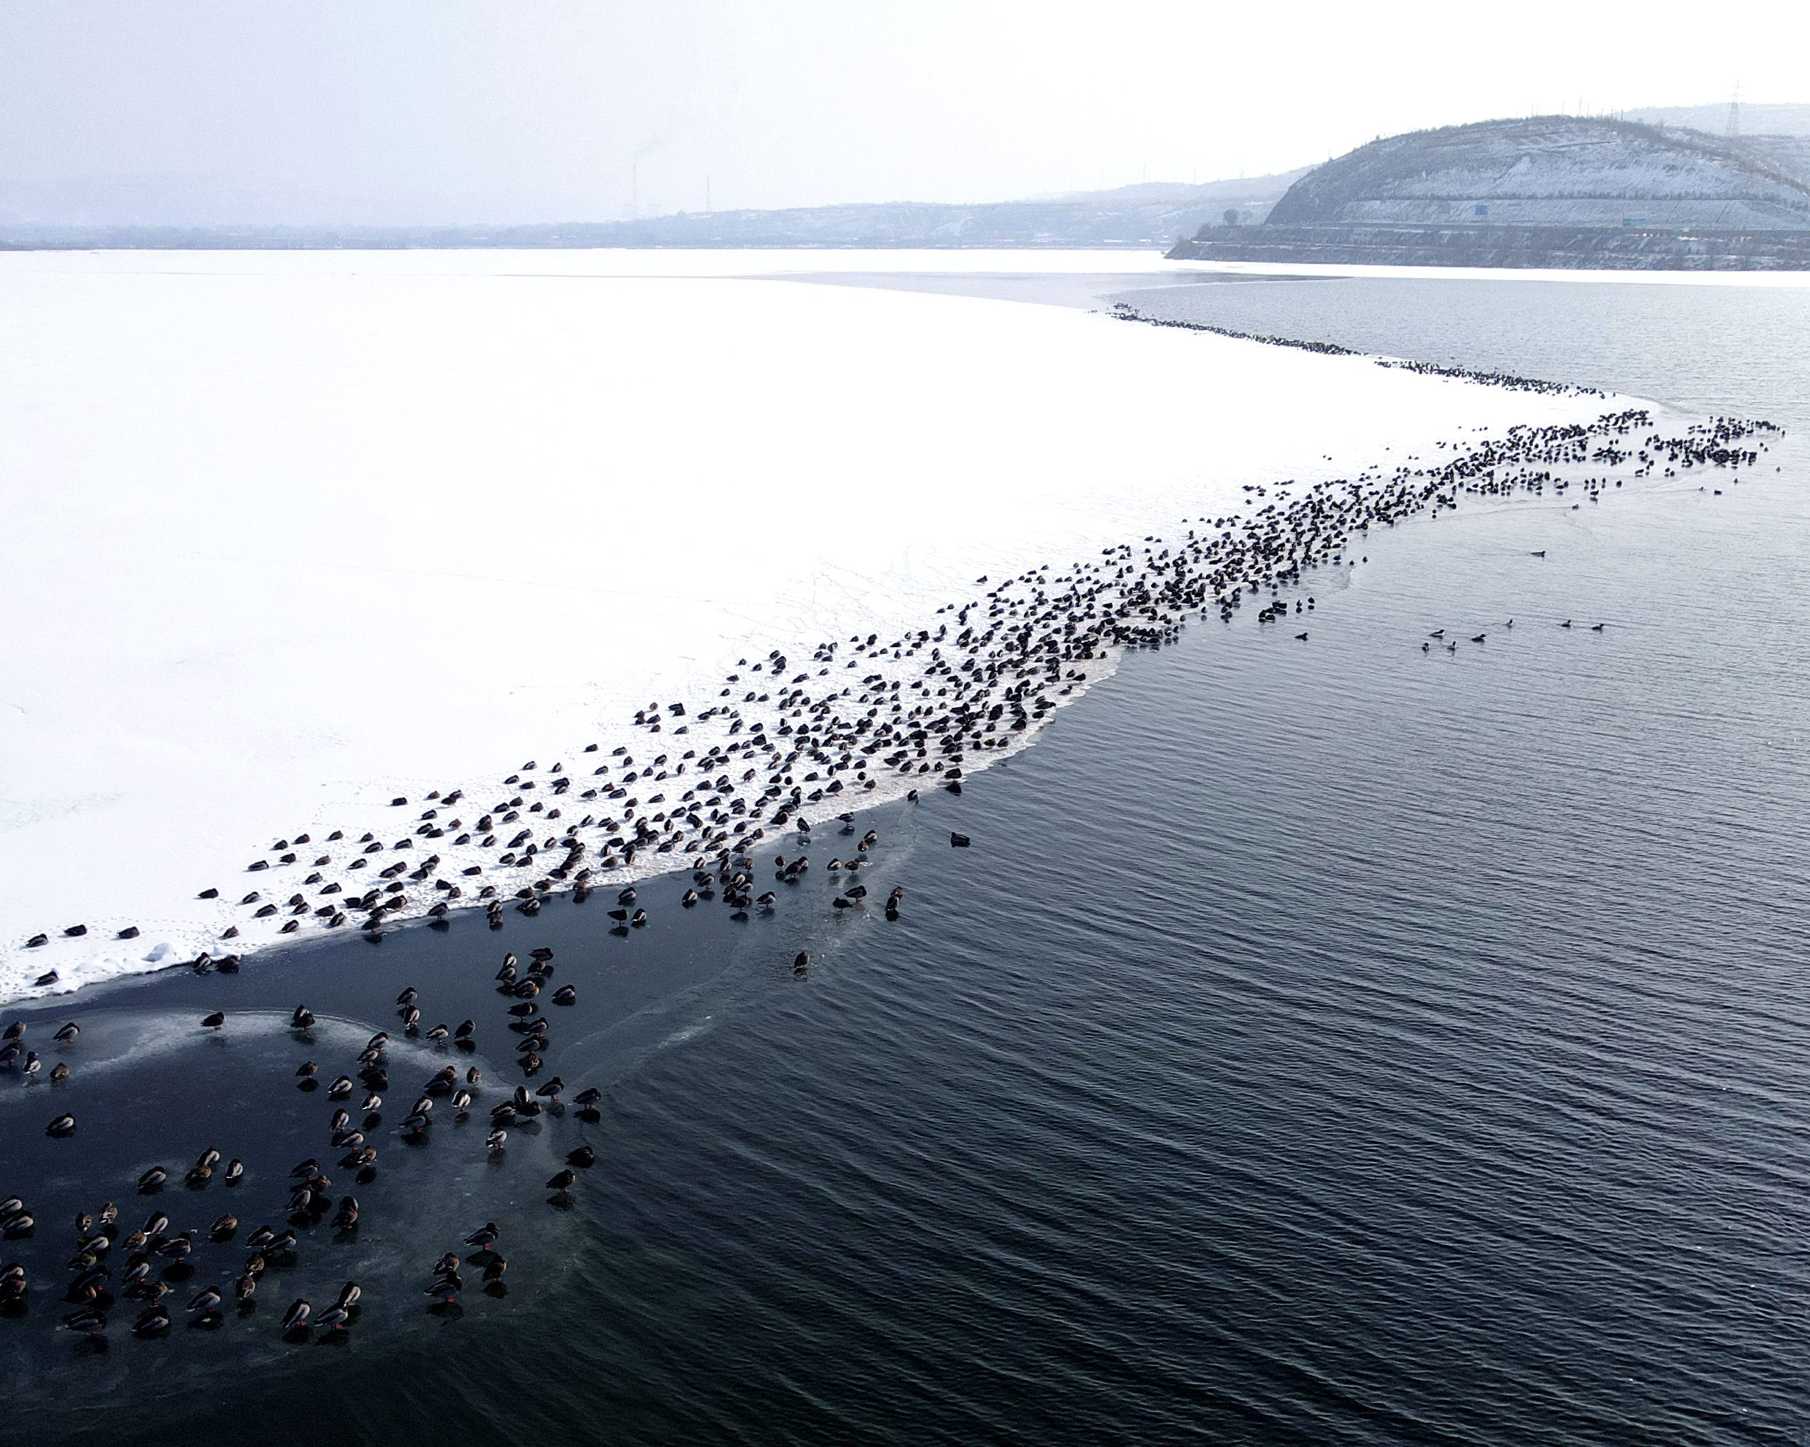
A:
{"type": "Polygon", "coordinates": [[[1327,161],[1265,224],[1806,230],[1803,150],[1577,116],[1482,121],[1327,161]]]}

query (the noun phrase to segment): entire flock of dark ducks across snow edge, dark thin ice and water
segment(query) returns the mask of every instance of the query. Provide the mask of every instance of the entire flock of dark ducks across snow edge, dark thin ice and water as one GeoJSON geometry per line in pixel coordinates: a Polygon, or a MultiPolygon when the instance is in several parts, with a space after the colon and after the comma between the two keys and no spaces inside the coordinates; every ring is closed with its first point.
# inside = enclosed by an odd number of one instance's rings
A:
{"type": "MultiPolygon", "coordinates": [[[[1354,566],[1352,541],[1372,526],[1394,526],[1428,508],[1437,517],[1455,508],[1462,494],[1540,496],[1551,488],[1562,497],[1580,487],[1587,501],[1596,501],[1611,485],[1622,485],[1609,474],[1629,463],[1633,476],[1752,467],[1765,441],[1743,443],[1776,430],[1763,421],[1714,418],[1667,438],[1649,430],[1651,423],[1643,411],[1624,411],[1591,425],[1515,427],[1500,440],[1453,447],[1441,459],[1408,458],[1394,470],[1367,470],[1356,479],[1253,485],[1245,488],[1249,508],[1242,514],[1189,519],[1193,526],[1184,537],[1146,537],[1142,552],[1122,544],[1066,572],[1026,572],[994,586],[981,601],[945,606],[939,613],[947,617],[934,629],[921,628],[887,644],[874,633],[820,642],[807,664],[795,664],[780,649],[755,662],[742,658],[708,705],[672,702],[641,709],[634,725],[644,742],[586,760],[588,774],[579,774],[577,767],[568,771],[565,763],[541,769],[530,760],[487,790],[487,803],[480,805],[465,789],[429,794],[414,827],[393,841],[376,837],[375,830],[357,839],[333,830],[319,843],[306,830],[277,839],[270,856],[248,865],[246,872],[257,881],[239,897],[241,913],[221,930],[223,948],[237,948],[226,942],[241,939],[255,921],[281,919],[273,928],[277,937],[311,924],[320,930],[355,926],[382,939],[409,917],[425,917],[443,928],[445,917],[463,904],[476,904],[500,928],[509,906],[534,915],[557,892],[585,901],[610,883],[610,875],[615,875],[608,910],[612,932],[626,935],[648,922],[635,879],[666,872],[686,856],[691,875],[679,904],[693,908],[720,895],[735,917],[746,919],[776,903],[771,888],[757,894],[757,845],[771,837],[769,830],[791,827],[793,834],[780,837],[782,852],[773,856],[775,883],[798,883],[811,868],[807,814],[831,812],[838,805],[843,807],[836,816],[842,834],[854,843],[827,861],[836,883],[833,908],[867,908],[863,870],[878,836],[869,830],[854,837],[854,810],[847,805],[862,796],[903,792],[916,798],[918,787],[929,783],[959,792],[965,769],[1023,743],[1057,700],[1081,689],[1090,669],[1099,671],[1115,651],[1160,648],[1187,619],[1218,613],[1229,620],[1247,601],[1262,602],[1258,620],[1263,624],[1291,617],[1283,590],[1292,590],[1309,570],[1354,566]],[[865,671],[843,684],[842,678],[856,669],[865,671]],[[286,883],[273,884],[277,879],[286,883]]],[[[985,582],[986,577],[977,579],[985,582]]],[[[1301,617],[1314,606],[1314,599],[1294,599],[1292,615],[1301,617]]],[[[1296,637],[1307,638],[1305,633],[1296,637]]],[[[1472,642],[1484,638],[1475,635],[1472,642]]],[[[1423,648],[1430,649],[1434,640],[1457,648],[1443,629],[1423,648]]],[[[601,745],[585,752],[601,754],[601,745]]],[[[407,805],[405,798],[393,801],[396,809],[407,805]]],[[[968,843],[961,834],[950,836],[952,846],[968,843]]],[[[221,890],[208,888],[203,897],[219,899],[221,890]]],[[[898,919],[901,899],[903,888],[892,888],[883,904],[887,917],[898,919]]],[[[69,937],[83,933],[81,924],[63,930],[69,937]]],[[[118,933],[134,937],[138,930],[127,926],[118,933]]],[[[45,942],[47,935],[36,935],[29,946],[45,942]]],[[[805,973],[809,962],[809,955],[798,955],[795,971],[805,973]]],[[[192,960],[197,973],[233,973],[239,964],[239,953],[205,951],[192,960]]],[[[507,1150],[509,1130],[518,1121],[567,1109],[565,1082],[557,1074],[541,1080],[552,1038],[543,997],[552,1006],[570,1006],[577,991],[572,984],[556,986],[552,977],[550,950],[534,950],[527,964],[509,955],[496,973],[496,989],[509,1002],[505,1024],[518,1036],[514,1058],[523,1083],[489,1107],[487,1152],[507,1150]]],[[[38,984],[54,984],[54,971],[38,984]]],[[[474,1020],[424,1029],[420,995],[413,988],[398,997],[396,1009],[400,1029],[411,1040],[443,1051],[476,1047],[474,1020]]],[[[297,1007],[290,1020],[297,1038],[311,1038],[313,1026],[315,1017],[297,1007]]],[[[219,1009],[201,1018],[199,1027],[223,1031],[232,1020],[219,1009]]],[[[78,1035],[80,1026],[69,1022],[52,1042],[69,1053],[78,1035]]],[[[338,1152],[333,1168],[349,1172],[353,1185],[373,1181],[378,1170],[389,1091],[387,1044],[389,1035],[378,1031],[344,1071],[326,1071],[310,1060],[297,1073],[299,1089],[324,1089],[333,1102],[324,1154],[338,1152]],[[349,1105],[353,1096],[358,1096],[357,1111],[349,1105]]],[[[27,1083],[45,1074],[20,1022],[0,1036],[0,1073],[18,1073],[27,1083]]],[[[47,1078],[65,1082],[69,1064],[56,1060],[47,1078]]],[[[480,1109],[481,1092],[481,1073],[474,1065],[460,1071],[449,1062],[422,1083],[389,1129],[400,1140],[420,1143],[436,1118],[469,1120],[480,1109]]],[[[599,1100],[601,1092],[592,1087],[572,1094],[570,1105],[581,1120],[597,1120],[599,1100]]],[[[54,1140],[71,1140],[76,1132],[78,1121],[67,1112],[45,1127],[54,1140]]],[[[565,1167],[547,1181],[552,1199],[568,1196],[594,1163],[594,1149],[576,1145],[565,1167]]],[[[230,1188],[244,1176],[241,1161],[221,1167],[219,1152],[208,1150],[185,1179],[205,1183],[215,1170],[230,1188]]],[[[138,1181],[138,1190],[156,1194],[167,1177],[168,1172],[156,1167],[138,1181]]],[[[235,1311],[253,1311],[264,1268],[272,1261],[293,1261],[300,1232],[322,1223],[335,1234],[355,1232],[358,1197],[340,1194],[335,1199],[331,1187],[328,1167],[315,1158],[300,1161],[286,1181],[286,1225],[259,1226],[243,1239],[243,1270],[230,1286],[206,1286],[188,1297],[190,1324],[197,1329],[219,1326],[228,1295],[235,1311]]],[[[0,1237],[29,1235],[34,1225],[22,1197],[0,1201],[0,1237]]],[[[239,1241],[239,1221],[230,1212],[205,1228],[172,1234],[167,1214],[152,1210],[143,1226],[121,1237],[118,1206],[110,1201],[94,1215],[76,1215],[74,1226],[71,1282],[63,1291],[71,1310],[63,1326],[89,1338],[105,1331],[107,1311],[118,1300],[138,1308],[134,1335],[168,1331],[176,1320],[172,1291],[192,1273],[192,1257],[205,1246],[239,1241]]],[[[469,1259],[447,1252],[433,1264],[424,1293],[434,1310],[456,1302],[465,1284],[462,1264],[480,1270],[485,1291],[505,1290],[507,1261],[494,1250],[496,1243],[498,1228],[487,1223],[465,1239],[463,1244],[474,1248],[469,1259]]],[[[4,1264],[0,1315],[24,1311],[31,1290],[22,1264],[4,1264]]],[[[282,1313],[281,1329],[291,1338],[346,1333],[358,1319],[360,1297],[360,1286],[346,1282],[322,1311],[297,1299],[282,1313]]]]}

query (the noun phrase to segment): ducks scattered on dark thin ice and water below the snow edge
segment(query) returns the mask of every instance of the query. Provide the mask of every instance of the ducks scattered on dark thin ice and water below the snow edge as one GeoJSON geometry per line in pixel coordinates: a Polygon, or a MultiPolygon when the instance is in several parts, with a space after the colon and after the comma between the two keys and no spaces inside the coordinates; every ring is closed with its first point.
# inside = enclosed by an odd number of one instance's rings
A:
{"type": "MultiPolygon", "coordinates": [[[[833,908],[862,908],[869,895],[860,883],[862,870],[871,861],[871,852],[878,846],[876,830],[867,830],[856,837],[853,814],[843,816],[842,834],[853,839],[845,850],[847,857],[834,857],[827,863],[827,872],[836,881],[833,908]]],[[[967,836],[952,834],[952,846],[967,846],[967,836]]],[[[726,852],[715,868],[695,868],[681,906],[693,908],[700,903],[715,901],[738,917],[749,910],[773,912],[776,890],[755,894],[755,859],[748,854],[726,852]]],[[[811,868],[809,857],[784,854],[773,857],[775,883],[798,884],[811,868]]],[[[903,886],[894,886],[883,903],[887,919],[898,919],[905,897],[903,886]]],[[[644,919],[639,906],[639,890],[623,888],[610,915],[617,919],[615,930],[628,930],[637,919],[644,919]]],[[[802,951],[793,960],[793,973],[807,975],[811,955],[802,951]]],[[[434,1121],[451,1118],[467,1123],[480,1116],[485,1123],[483,1150],[489,1158],[501,1158],[509,1149],[510,1129],[519,1121],[532,1121],[541,1116],[563,1116],[570,1107],[577,1120],[595,1123],[601,1120],[599,1103],[603,1091],[585,1087],[570,1092],[567,1082],[552,1074],[541,1080],[547,1071],[547,1056],[552,1049],[552,1024],[545,1006],[570,1007],[577,1004],[577,986],[554,982],[554,951],[539,946],[529,951],[527,960],[514,951],[505,953],[494,975],[494,989],[503,998],[501,1024],[516,1036],[512,1067],[521,1074],[521,1083],[514,1085],[496,1103],[483,1107],[480,1096],[485,1092],[483,1071],[476,1064],[462,1069],[458,1055],[467,1058],[478,1049],[478,1022],[474,1018],[460,1024],[427,1024],[422,1015],[422,991],[407,986],[396,997],[398,1033],[407,1042],[425,1044],[443,1051],[452,1058],[429,1074],[418,1087],[413,1102],[400,1120],[387,1127],[387,1134],[405,1145],[427,1143],[434,1121]]],[[[297,1006],[286,1022],[290,1036],[300,1044],[315,1044],[319,1018],[308,1006],[297,1006]]],[[[221,1033],[233,1027],[233,1018],[226,1009],[215,1009],[197,1020],[203,1033],[221,1033]]],[[[9,1022],[4,1036],[4,1055],[0,1058],[22,1069],[27,1082],[36,1078],[36,1055],[25,1047],[29,1027],[24,1020],[9,1022]],[[22,1056],[24,1053],[24,1056],[22,1056]],[[20,1065],[20,1058],[29,1064],[20,1065]]],[[[65,1051],[76,1053],[81,1026],[76,1020],[63,1022],[52,1040],[65,1051]]],[[[186,1302],[186,1322],[195,1329],[214,1329],[224,1324],[230,1308],[239,1317],[257,1311],[259,1281],[266,1268],[275,1264],[293,1268],[302,1248],[304,1234],[322,1226],[335,1241],[355,1239],[364,1206],[355,1194],[333,1196],[333,1177],[329,1168],[346,1172],[349,1185],[367,1187],[378,1177],[380,1140],[386,1132],[386,1094],[391,1092],[393,1062],[389,1031],[376,1031],[351,1060],[322,1064],[308,1058],[293,1073],[295,1087],[306,1094],[324,1092],[331,1103],[326,1118],[326,1147],[320,1156],[310,1156],[290,1168],[282,1181],[286,1199],[281,1206],[281,1225],[261,1225],[239,1241],[239,1217],[226,1212],[206,1226],[172,1230],[167,1212],[152,1210],[145,1225],[121,1237],[119,1206],[107,1201],[98,1212],[80,1212],[74,1219],[76,1241],[74,1255],[67,1263],[71,1281],[62,1293],[71,1308],[62,1317],[62,1326],[81,1335],[90,1346],[103,1342],[109,1326],[109,1311],[121,1302],[130,1302],[134,1319],[130,1333],[148,1338],[168,1333],[177,1319],[177,1295],[186,1291],[186,1282],[194,1275],[201,1253],[208,1248],[243,1250],[244,1261],[237,1277],[230,1284],[208,1284],[194,1291],[186,1302]],[[357,1100],[357,1105],[353,1102],[357,1100]],[[322,1158],[333,1159],[324,1165],[322,1158]],[[114,1261],[119,1261],[118,1273],[114,1261]]],[[[67,1080],[67,1065],[58,1069],[67,1080]]],[[[52,1076],[56,1078],[56,1076],[52,1076]]],[[[78,1121],[63,1112],[51,1120],[45,1134],[52,1140],[72,1140],[78,1136],[78,1121]]],[[[581,1179],[581,1172],[597,1163],[597,1152],[588,1143],[577,1143],[565,1154],[563,1167],[547,1179],[552,1205],[570,1205],[572,1190],[581,1179]]],[[[181,1183],[190,1190],[205,1188],[219,1174],[221,1183],[230,1190],[239,1190],[246,1179],[246,1165],[233,1158],[221,1163],[221,1152],[205,1150],[195,1163],[181,1174],[181,1183]]],[[[167,1183],[172,1183],[176,1170],[156,1165],[145,1170],[136,1181],[141,1196],[157,1196],[167,1183]]],[[[272,1212],[277,1215],[277,1212],[272,1212]]],[[[0,1239],[16,1241],[29,1237],[36,1230],[36,1217],[22,1197],[0,1203],[0,1239]]],[[[480,1270],[480,1286],[487,1295],[505,1295],[505,1272],[509,1263],[496,1252],[500,1228],[485,1223],[465,1239],[476,1248],[462,1263],[458,1252],[443,1253],[429,1270],[422,1288],[429,1299],[429,1310],[445,1313],[454,1310],[465,1288],[460,1266],[480,1270]]],[[[33,1281],[25,1266],[18,1261],[0,1268],[0,1315],[24,1315],[33,1290],[33,1281]]],[[[342,1338],[358,1320],[364,1288],[348,1281],[331,1306],[317,1311],[306,1297],[297,1297],[282,1311],[279,1329],[284,1340],[304,1342],[319,1338],[342,1338]]]]}

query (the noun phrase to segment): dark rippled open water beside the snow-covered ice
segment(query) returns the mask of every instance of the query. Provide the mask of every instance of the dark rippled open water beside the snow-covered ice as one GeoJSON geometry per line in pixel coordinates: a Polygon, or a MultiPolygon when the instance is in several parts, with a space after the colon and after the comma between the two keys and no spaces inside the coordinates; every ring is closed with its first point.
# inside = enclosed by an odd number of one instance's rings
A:
{"type": "MultiPolygon", "coordinates": [[[[1162,306],[1805,418],[1810,293],[1385,286],[1162,306]]],[[[1723,496],[1466,501],[1310,579],[1309,644],[1240,615],[1128,657],[961,798],[869,816],[896,924],[831,912],[822,870],[748,924],[666,881],[628,939],[599,895],[27,1017],[40,1049],[89,1029],[54,1096],[0,1087],[0,1190],[43,1221],[5,1248],[42,1286],[0,1320],[0,1438],[1810,1440],[1810,474],[1790,440],[1772,461],[1723,496]],[[1423,655],[1441,626],[1488,642],[1423,655]],[[337,1154],[295,1064],[349,1065],[404,984],[507,1056],[489,980],[534,944],[581,991],[548,1064],[605,1087],[597,1125],[519,1129],[498,1165],[480,1121],[380,1130],[357,1243],[304,1232],[252,1319],[136,1342],[119,1308],[105,1355],[51,1329],[78,1205],[281,1223],[288,1167],[337,1154]],[[253,1013],[297,1002],[311,1042],[253,1013]],[[215,1006],[228,1038],[199,1040],[215,1006]],[[54,1109],[74,1141],[43,1140],[54,1109]],[[599,1163],[556,1210],[581,1138],[599,1163]],[[233,1196],[129,1196],[210,1145],[252,1167],[233,1196]],[[429,1264],[483,1219],[510,1295],[469,1270],[463,1317],[429,1317],[429,1264]],[[277,1340],[348,1275],[348,1344],[277,1340]]],[[[395,1051],[393,1120],[431,1056],[395,1051]]],[[[243,1252],[197,1255],[224,1282],[243,1252]]]]}

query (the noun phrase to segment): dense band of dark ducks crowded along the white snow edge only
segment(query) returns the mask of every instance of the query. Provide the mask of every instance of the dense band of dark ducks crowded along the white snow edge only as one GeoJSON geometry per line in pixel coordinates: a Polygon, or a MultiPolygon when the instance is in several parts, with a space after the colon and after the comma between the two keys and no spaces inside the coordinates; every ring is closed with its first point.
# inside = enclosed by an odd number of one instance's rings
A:
{"type": "MultiPolygon", "coordinates": [[[[1307,570],[1356,564],[1352,543],[1372,526],[1423,510],[1439,517],[1462,494],[1551,488],[1564,497],[1578,487],[1595,503],[1622,485],[1609,474],[1627,465],[1634,478],[1752,467],[1765,441],[1756,449],[1748,440],[1777,430],[1720,416],[1669,438],[1651,425],[1649,412],[1629,409],[1589,425],[1511,427],[1499,440],[1453,443],[1444,458],[1410,456],[1354,479],[1247,485],[1242,512],[1186,519],[1193,526],[1184,537],[1146,537],[1142,552],[1120,544],[1066,572],[1026,572],[983,599],[938,610],[934,628],[889,642],[876,633],[825,640],[809,662],[782,649],[740,658],[708,705],[653,702],[637,711],[634,729],[644,742],[634,747],[570,769],[529,760],[485,790],[483,803],[463,787],[433,790],[400,837],[335,828],[320,839],[310,830],[277,839],[246,865],[255,879],[243,892],[201,890],[201,899],[221,901],[224,919],[219,944],[192,964],[232,971],[252,944],[308,928],[382,939],[405,919],[443,926],[467,906],[492,922],[510,904],[532,915],[556,892],[583,901],[612,877],[621,884],[666,872],[682,856],[722,865],[787,825],[807,839],[809,812],[847,810],[854,799],[880,801],[919,783],[959,792],[965,769],[1019,747],[1119,649],[1162,646],[1191,615],[1231,619],[1247,601],[1263,601],[1260,622],[1289,617],[1281,591],[1307,570]],[[842,682],[856,669],[865,671],[842,682]]],[[[1312,599],[1296,599],[1292,615],[1312,608],[1312,599]]],[[[599,752],[597,743],[585,749],[599,752]]],[[[646,921],[628,912],[617,922],[646,921]]],[[[60,933],[80,939],[89,926],[60,933]]],[[[136,924],[116,932],[138,935],[136,924]]],[[[43,932],[24,944],[49,942],[43,932]]],[[[56,982],[54,969],[36,977],[43,989],[56,982]]]]}

